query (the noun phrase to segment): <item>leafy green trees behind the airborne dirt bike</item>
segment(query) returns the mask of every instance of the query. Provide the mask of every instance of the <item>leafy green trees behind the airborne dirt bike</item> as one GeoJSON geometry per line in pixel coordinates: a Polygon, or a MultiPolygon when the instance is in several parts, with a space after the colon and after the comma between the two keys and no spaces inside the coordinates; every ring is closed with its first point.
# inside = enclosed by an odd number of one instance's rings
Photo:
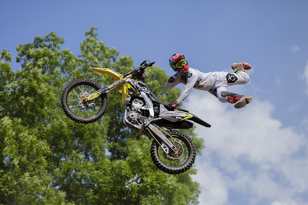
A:
{"type": "MultiPolygon", "coordinates": [[[[96,27],[86,31],[74,56],[62,49],[64,38],[55,32],[36,36],[0,55],[0,204],[197,204],[199,185],[191,168],[168,175],[152,163],[151,141],[126,128],[119,92],[108,95],[107,113],[98,122],[78,124],[65,116],[60,96],[77,78],[99,84],[112,79],[92,72],[105,67],[125,73],[133,68],[130,56],[120,56],[97,38],[96,27]]],[[[180,94],[163,92],[168,76],[153,66],[147,85],[162,101],[180,94]]],[[[197,146],[203,141],[186,130],[197,146]]]]}

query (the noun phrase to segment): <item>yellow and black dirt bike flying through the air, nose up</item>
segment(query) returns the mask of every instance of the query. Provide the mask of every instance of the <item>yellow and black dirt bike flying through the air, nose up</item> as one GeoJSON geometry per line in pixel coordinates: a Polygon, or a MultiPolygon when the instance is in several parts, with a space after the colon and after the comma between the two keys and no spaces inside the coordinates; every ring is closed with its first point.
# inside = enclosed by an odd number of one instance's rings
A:
{"type": "Polygon", "coordinates": [[[205,127],[211,125],[187,110],[178,107],[169,109],[168,104],[152,93],[144,83],[147,77],[144,70],[154,63],[147,59],[140,67],[123,75],[107,68],[92,68],[114,80],[103,86],[89,79],[75,80],[63,90],[61,104],[71,120],[93,123],[107,111],[108,93],[120,88],[125,106],[124,125],[153,139],[150,153],[157,168],[168,174],[180,174],[193,165],[196,149],[190,137],[176,129],[192,128],[191,121],[205,127]]]}

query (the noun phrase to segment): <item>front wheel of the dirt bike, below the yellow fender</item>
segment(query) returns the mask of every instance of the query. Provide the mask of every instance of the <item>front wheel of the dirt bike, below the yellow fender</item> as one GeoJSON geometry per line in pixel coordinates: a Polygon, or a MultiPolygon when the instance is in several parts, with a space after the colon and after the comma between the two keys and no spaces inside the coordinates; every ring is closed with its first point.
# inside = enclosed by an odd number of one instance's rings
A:
{"type": "Polygon", "coordinates": [[[95,102],[91,102],[91,106],[84,99],[100,88],[98,83],[88,79],[78,79],[68,84],[61,96],[61,104],[65,114],[75,122],[83,124],[99,120],[107,110],[107,94],[103,94],[95,102]]]}

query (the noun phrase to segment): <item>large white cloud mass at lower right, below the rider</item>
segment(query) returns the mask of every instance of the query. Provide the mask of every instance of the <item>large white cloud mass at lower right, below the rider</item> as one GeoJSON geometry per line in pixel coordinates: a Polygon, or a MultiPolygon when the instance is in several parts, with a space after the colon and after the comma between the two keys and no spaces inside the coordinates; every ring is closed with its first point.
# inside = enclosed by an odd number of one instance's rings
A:
{"type": "Polygon", "coordinates": [[[308,191],[308,139],[272,118],[270,102],[253,100],[235,109],[194,91],[184,106],[212,125],[196,129],[206,146],[197,157],[194,177],[202,187],[200,204],[239,205],[234,197],[229,201],[230,191],[241,192],[252,205],[262,199],[272,205],[308,203],[307,198],[295,200],[308,191]]]}

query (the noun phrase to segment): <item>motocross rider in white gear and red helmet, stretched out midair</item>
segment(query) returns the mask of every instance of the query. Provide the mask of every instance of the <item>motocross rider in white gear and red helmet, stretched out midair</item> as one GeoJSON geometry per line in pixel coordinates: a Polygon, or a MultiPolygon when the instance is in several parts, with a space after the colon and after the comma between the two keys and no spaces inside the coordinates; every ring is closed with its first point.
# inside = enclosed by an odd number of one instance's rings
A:
{"type": "Polygon", "coordinates": [[[209,72],[203,73],[197,69],[189,67],[186,57],[183,53],[173,54],[169,59],[170,67],[176,72],[165,83],[165,90],[168,91],[180,83],[185,84],[185,88],[180,97],[168,108],[176,108],[189,95],[193,88],[205,90],[213,94],[221,102],[234,104],[235,108],[242,108],[252,101],[251,96],[230,93],[226,87],[230,85],[246,84],[249,76],[246,70],[251,69],[249,63],[233,63],[231,68],[234,73],[209,72]]]}

